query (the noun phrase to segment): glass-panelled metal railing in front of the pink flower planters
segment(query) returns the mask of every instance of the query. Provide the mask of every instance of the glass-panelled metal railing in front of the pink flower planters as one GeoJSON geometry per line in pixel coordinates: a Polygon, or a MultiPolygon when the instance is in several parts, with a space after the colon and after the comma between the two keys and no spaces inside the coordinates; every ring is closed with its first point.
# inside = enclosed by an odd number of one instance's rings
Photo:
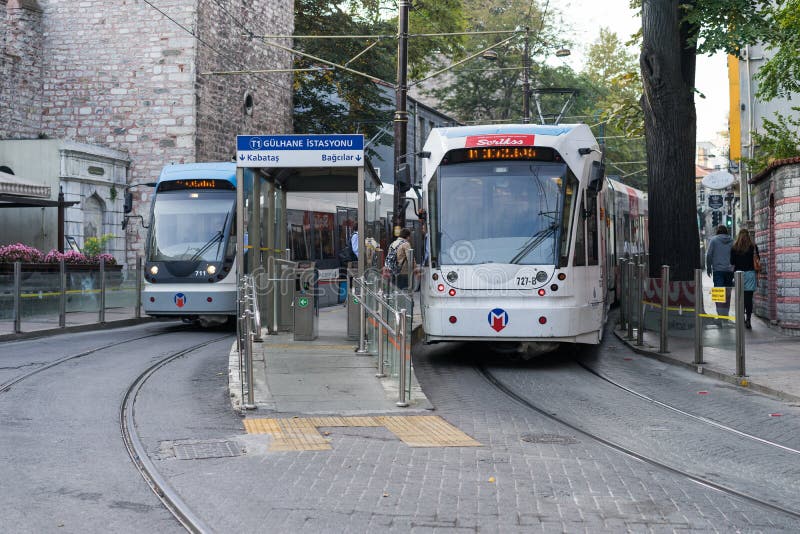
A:
{"type": "Polygon", "coordinates": [[[70,313],[96,312],[95,321],[84,320],[82,324],[104,324],[106,311],[112,308],[131,309],[134,318],[141,318],[141,258],[137,258],[135,270],[111,275],[104,261],[94,270],[71,266],[64,260],[57,271],[53,267],[27,267],[15,262],[10,275],[0,274],[0,308],[6,310],[0,313],[0,320],[10,319],[14,333],[23,332],[25,320],[46,323],[47,317],[55,315],[58,327],[66,328],[70,313]],[[11,313],[6,315],[8,311],[11,313]]]}

